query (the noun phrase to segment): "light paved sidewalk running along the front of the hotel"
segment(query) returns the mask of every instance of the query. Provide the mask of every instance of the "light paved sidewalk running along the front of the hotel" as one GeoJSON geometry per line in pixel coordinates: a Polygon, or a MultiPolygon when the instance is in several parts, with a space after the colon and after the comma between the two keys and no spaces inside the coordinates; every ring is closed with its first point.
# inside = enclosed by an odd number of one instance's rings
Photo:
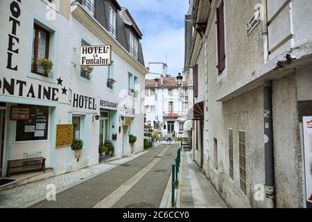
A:
{"type": "Polygon", "coordinates": [[[56,194],[58,194],[101,173],[119,167],[121,164],[134,160],[146,152],[148,151],[0,191],[0,208],[28,207],[46,198],[46,193],[49,191],[46,189],[46,185],[55,185],[56,194]]]}

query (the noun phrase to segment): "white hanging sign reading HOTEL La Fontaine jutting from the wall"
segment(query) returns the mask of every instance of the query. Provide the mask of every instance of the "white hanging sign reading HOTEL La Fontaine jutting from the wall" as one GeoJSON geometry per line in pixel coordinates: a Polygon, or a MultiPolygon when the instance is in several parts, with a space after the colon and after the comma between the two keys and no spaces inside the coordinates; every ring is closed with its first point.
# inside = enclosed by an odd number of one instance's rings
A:
{"type": "Polygon", "coordinates": [[[80,66],[110,65],[111,54],[111,46],[81,46],[80,66]]]}

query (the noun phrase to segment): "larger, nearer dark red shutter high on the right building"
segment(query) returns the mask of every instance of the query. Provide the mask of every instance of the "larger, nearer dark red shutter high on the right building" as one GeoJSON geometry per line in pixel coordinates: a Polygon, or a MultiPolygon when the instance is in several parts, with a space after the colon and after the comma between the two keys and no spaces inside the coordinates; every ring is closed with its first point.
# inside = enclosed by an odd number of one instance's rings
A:
{"type": "Polygon", "coordinates": [[[224,33],[224,3],[217,8],[217,29],[218,29],[218,71],[219,74],[225,69],[225,33],[224,33]]]}

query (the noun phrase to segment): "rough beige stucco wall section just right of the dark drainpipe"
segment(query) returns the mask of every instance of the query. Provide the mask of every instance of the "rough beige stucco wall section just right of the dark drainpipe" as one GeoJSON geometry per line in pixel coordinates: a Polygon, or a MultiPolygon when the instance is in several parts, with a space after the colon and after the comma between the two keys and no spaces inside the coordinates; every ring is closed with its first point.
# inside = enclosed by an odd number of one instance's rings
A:
{"type": "Polygon", "coordinates": [[[277,207],[302,207],[302,150],[295,74],[272,83],[277,207]]]}

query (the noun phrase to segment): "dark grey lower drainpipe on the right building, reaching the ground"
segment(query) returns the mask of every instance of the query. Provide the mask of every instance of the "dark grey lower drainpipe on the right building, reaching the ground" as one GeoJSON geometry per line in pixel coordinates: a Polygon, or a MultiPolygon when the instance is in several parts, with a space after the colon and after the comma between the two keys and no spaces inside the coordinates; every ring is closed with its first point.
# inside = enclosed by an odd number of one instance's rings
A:
{"type": "Polygon", "coordinates": [[[263,87],[263,110],[264,110],[264,159],[266,173],[266,207],[275,207],[275,172],[274,172],[274,149],[272,130],[272,88],[271,82],[267,81],[263,87]]]}

